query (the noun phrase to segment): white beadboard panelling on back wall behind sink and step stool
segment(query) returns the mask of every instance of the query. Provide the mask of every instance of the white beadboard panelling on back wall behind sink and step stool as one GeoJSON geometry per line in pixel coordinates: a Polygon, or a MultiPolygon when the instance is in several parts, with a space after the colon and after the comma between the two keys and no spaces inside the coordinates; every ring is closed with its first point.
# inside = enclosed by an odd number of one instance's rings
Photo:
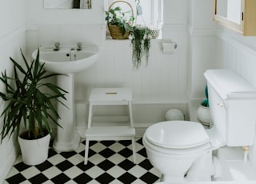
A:
{"type": "Polygon", "coordinates": [[[186,24],[163,26],[163,39],[177,42],[177,49],[174,54],[162,54],[162,39],[151,40],[148,65],[142,58],[139,69],[134,69],[132,64],[130,40],[105,39],[105,31],[102,25],[34,25],[27,30],[28,53],[56,41],[61,46],[76,45],[77,41],[100,46],[98,62],[74,74],[78,130],[86,127],[86,107],[94,87],[130,87],[134,97],[134,126],[138,129],[164,120],[166,110],[171,108],[188,114],[186,24]]]}

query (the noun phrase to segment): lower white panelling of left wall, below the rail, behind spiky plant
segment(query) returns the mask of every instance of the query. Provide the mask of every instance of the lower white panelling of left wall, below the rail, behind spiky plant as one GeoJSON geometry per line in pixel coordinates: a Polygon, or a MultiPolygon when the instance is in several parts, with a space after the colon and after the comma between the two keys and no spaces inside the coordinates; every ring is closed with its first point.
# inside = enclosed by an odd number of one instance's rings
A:
{"type": "MultiPolygon", "coordinates": [[[[0,3],[1,4],[1,3],[0,3]]],[[[22,62],[22,54],[20,49],[26,53],[26,26],[14,27],[7,34],[0,34],[0,69],[2,72],[6,70],[7,74],[13,74],[14,66],[10,62],[10,58],[14,58],[17,62],[22,62]]],[[[0,85],[1,91],[4,91],[4,86],[0,85]]],[[[0,99],[0,111],[2,113],[5,102],[0,99]]],[[[2,121],[2,118],[1,118],[2,121]]],[[[2,122],[0,123],[0,130],[2,130],[2,122]]],[[[14,136],[10,139],[5,138],[0,143],[0,183],[6,178],[10,167],[13,165],[17,154],[18,144],[14,136]]]]}

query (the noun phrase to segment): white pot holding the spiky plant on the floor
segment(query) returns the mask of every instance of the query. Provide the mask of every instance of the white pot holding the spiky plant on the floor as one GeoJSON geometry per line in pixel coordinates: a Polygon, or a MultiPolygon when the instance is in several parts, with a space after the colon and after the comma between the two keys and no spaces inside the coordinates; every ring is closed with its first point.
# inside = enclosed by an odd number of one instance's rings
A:
{"type": "Polygon", "coordinates": [[[18,142],[22,150],[22,160],[26,165],[38,165],[48,158],[50,134],[34,140],[18,137],[18,142]]]}

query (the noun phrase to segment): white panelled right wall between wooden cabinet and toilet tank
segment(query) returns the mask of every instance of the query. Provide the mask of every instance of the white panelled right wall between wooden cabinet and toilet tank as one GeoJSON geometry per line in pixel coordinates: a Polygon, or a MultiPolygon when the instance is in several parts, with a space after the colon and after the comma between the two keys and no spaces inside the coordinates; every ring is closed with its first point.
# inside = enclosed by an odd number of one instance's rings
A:
{"type": "Polygon", "coordinates": [[[242,37],[220,27],[216,44],[218,67],[238,71],[256,87],[256,38],[242,37]]]}

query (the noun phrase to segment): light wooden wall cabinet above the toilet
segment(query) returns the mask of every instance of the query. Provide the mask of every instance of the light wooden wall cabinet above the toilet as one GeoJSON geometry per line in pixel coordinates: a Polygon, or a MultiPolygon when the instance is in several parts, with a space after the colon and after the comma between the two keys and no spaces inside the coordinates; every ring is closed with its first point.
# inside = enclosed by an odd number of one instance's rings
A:
{"type": "Polygon", "coordinates": [[[214,0],[214,22],[256,36],[256,0],[214,0]]]}

